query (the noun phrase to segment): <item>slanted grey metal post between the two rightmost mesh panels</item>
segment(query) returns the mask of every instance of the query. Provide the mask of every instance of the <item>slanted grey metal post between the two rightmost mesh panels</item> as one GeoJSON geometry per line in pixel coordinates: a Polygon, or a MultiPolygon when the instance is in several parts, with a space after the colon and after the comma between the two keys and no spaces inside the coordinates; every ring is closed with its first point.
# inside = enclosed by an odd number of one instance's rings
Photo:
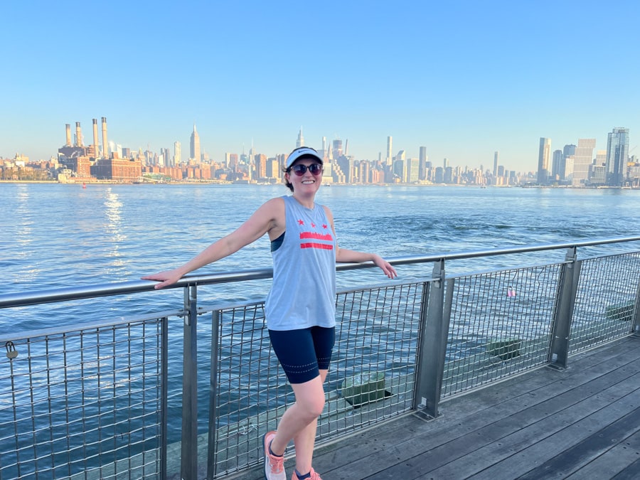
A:
{"type": "Polygon", "coordinates": [[[571,319],[582,263],[577,260],[576,247],[567,250],[565,262],[560,270],[549,352],[550,366],[558,369],[567,367],[567,356],[569,356],[571,319]]]}

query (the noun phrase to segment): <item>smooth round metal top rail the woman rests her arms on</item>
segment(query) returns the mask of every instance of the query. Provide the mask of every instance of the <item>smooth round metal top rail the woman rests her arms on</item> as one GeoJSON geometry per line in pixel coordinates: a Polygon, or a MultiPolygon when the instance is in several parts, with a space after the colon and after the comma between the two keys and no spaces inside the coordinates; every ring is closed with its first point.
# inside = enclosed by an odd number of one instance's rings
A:
{"type": "MultiPolygon", "coordinates": [[[[583,242],[565,242],[543,245],[528,245],[523,247],[493,248],[487,250],[471,250],[464,252],[447,252],[433,255],[410,255],[405,257],[393,257],[387,260],[392,265],[411,265],[417,263],[437,262],[440,260],[462,260],[476,257],[491,257],[498,255],[513,255],[518,253],[539,252],[541,250],[562,250],[573,247],[590,247],[594,245],[605,245],[609,243],[640,241],[640,237],[624,238],[604,238],[599,240],[587,240],[583,242]]],[[[340,263],[336,265],[336,270],[356,270],[361,268],[375,267],[370,262],[367,263],[340,263]]],[[[169,288],[188,287],[189,285],[219,284],[229,282],[245,282],[271,278],[272,268],[255,268],[250,270],[238,270],[231,272],[221,272],[205,275],[187,275],[181,278],[169,288]]],[[[151,292],[157,282],[152,280],[133,280],[129,282],[115,282],[111,284],[93,284],[80,287],[68,287],[58,289],[34,290],[32,292],[16,292],[0,295],[0,309],[26,306],[33,304],[43,304],[52,302],[65,302],[69,300],[79,300],[95,297],[110,297],[120,294],[132,294],[139,292],[151,292]]]]}

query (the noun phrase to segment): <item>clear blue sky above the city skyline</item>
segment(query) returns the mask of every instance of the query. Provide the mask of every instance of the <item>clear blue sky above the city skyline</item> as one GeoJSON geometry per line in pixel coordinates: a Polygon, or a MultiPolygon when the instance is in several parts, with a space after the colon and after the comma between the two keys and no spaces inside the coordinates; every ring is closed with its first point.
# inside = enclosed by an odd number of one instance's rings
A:
{"type": "Polygon", "coordinates": [[[65,124],[214,160],[348,140],[357,159],[537,168],[629,128],[640,143],[640,2],[10,1],[0,5],[0,157],[48,159],[65,124]]]}

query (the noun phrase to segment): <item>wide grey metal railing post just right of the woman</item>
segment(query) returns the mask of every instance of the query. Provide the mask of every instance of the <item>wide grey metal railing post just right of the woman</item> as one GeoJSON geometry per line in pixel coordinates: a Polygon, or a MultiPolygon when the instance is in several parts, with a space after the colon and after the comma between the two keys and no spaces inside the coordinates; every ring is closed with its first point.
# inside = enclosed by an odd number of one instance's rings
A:
{"type": "Polygon", "coordinates": [[[438,416],[446,334],[444,332],[444,260],[434,263],[432,282],[425,282],[420,306],[420,345],[413,405],[429,417],[438,416]]]}

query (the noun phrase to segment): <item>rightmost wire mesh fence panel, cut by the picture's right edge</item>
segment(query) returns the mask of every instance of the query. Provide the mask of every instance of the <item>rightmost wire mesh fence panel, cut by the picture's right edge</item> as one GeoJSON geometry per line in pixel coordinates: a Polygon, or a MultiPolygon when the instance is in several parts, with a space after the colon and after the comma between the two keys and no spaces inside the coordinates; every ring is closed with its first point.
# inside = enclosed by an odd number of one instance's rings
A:
{"type": "Polygon", "coordinates": [[[638,252],[582,260],[569,353],[631,332],[639,282],[638,252]]]}

